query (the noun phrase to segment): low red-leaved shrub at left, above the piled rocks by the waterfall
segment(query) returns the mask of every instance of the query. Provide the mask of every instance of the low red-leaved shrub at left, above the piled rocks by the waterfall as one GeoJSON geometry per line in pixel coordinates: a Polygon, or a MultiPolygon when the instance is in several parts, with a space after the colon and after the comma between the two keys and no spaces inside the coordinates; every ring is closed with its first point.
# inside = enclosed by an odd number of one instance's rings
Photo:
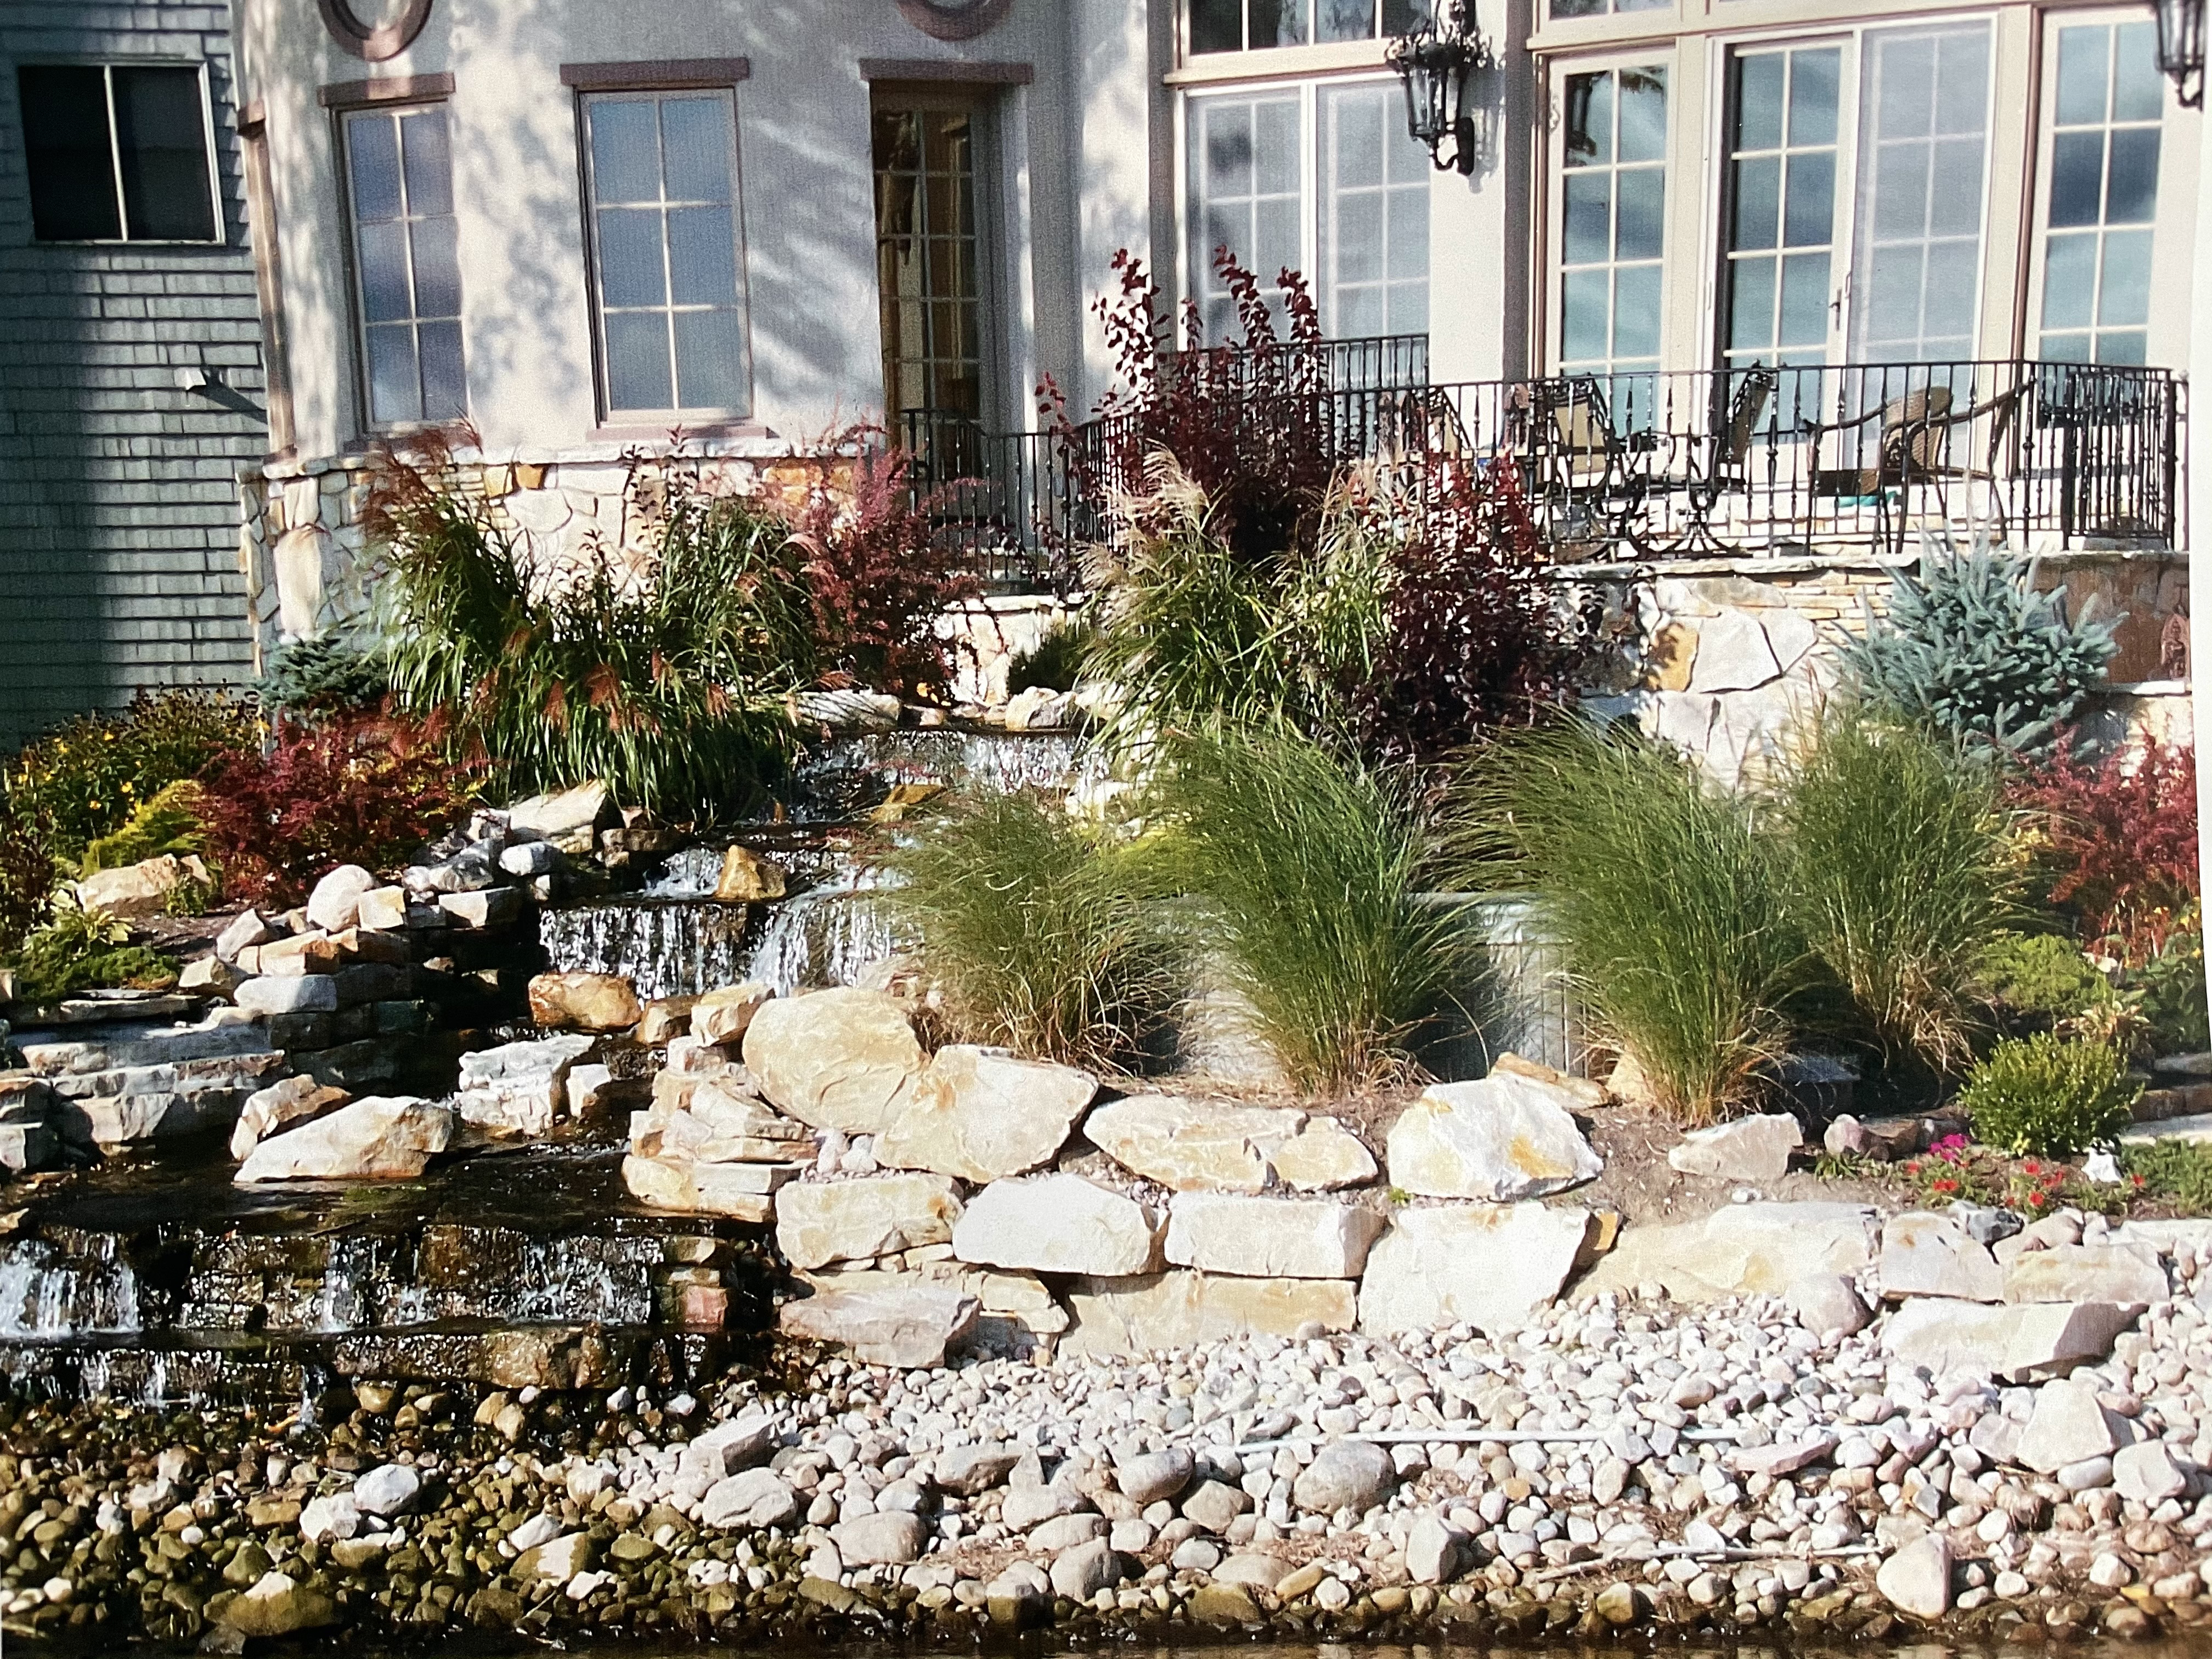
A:
{"type": "Polygon", "coordinates": [[[204,847],[230,898],[296,905],[338,865],[398,869],[469,812],[469,790],[418,723],[358,712],[279,721],[268,752],[208,772],[204,847]]]}

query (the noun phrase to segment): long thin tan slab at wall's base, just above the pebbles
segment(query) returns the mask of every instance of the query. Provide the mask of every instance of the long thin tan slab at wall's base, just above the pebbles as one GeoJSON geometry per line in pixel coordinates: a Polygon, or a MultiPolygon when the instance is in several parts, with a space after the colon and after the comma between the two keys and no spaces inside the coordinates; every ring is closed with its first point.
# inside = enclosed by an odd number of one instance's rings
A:
{"type": "Polygon", "coordinates": [[[1062,1354],[1152,1354],[1239,1336],[1347,1332],[1358,1318],[1345,1279],[1232,1279],[1172,1270],[1135,1279],[1077,1279],[1075,1329],[1062,1354]]]}

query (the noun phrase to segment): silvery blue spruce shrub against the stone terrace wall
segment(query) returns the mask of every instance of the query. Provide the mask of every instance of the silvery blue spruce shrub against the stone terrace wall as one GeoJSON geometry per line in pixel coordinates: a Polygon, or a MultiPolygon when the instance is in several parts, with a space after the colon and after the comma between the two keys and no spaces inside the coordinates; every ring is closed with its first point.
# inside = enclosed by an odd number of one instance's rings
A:
{"type": "Polygon", "coordinates": [[[1973,750],[2042,757],[2081,714],[2117,650],[2112,628],[2035,593],[2035,566],[1986,540],[1924,538],[1920,575],[1900,571],[1887,619],[1867,608],[1845,675],[1874,703],[1973,750]]]}

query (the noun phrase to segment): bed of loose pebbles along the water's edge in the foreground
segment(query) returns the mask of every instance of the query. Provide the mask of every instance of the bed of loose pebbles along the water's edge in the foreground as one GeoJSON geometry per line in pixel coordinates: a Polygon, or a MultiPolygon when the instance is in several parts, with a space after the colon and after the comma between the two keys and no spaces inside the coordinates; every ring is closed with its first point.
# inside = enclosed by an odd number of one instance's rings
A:
{"type": "Polygon", "coordinates": [[[787,1385],[701,1398],[361,1383],[323,1427],[18,1400],[4,1628],[223,1650],[327,1624],[2017,1641],[2212,1619],[2194,1303],[2037,1387],[1902,1369],[1878,1336],[1823,1340],[1781,1298],[1637,1294],[1504,1340],[933,1371],[787,1354],[787,1385]],[[2008,1462],[2053,1387],[2139,1444],[2055,1475],[2008,1462]],[[1931,1555],[1940,1584],[1876,1584],[1931,1555]]]}

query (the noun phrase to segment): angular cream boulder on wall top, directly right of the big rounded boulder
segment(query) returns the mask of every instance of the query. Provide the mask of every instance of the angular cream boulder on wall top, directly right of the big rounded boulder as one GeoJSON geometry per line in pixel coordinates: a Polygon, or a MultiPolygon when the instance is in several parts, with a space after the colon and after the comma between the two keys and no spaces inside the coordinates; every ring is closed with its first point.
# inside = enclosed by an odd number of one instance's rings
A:
{"type": "Polygon", "coordinates": [[[938,1048],[914,1097],[876,1137],[876,1161],[962,1181],[998,1181],[1048,1164],[1099,1079],[1075,1066],[989,1048],[938,1048]]]}

